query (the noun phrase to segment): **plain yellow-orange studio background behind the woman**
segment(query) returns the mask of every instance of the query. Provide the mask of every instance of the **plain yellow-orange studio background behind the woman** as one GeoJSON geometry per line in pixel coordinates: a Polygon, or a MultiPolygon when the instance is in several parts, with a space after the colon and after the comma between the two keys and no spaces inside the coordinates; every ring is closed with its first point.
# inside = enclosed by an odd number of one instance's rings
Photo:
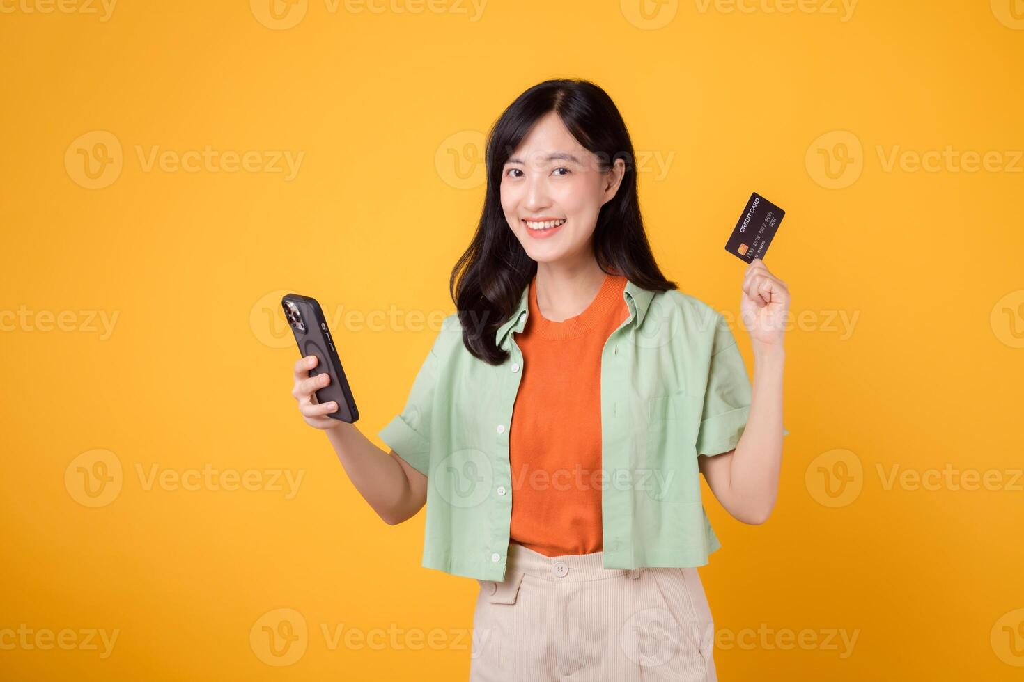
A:
{"type": "Polygon", "coordinates": [[[720,679],[1024,675],[1024,4],[642,2],[0,0],[0,679],[466,678],[476,582],[302,423],[268,311],[319,299],[376,440],[554,77],[730,320],[743,201],[787,212],[778,505],[705,488],[720,679]]]}

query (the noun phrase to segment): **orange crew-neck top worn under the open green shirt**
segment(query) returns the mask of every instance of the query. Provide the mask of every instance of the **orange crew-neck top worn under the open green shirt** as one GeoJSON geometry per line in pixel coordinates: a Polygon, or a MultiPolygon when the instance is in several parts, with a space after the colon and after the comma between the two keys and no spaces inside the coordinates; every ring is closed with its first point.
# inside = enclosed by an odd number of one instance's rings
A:
{"type": "Polygon", "coordinates": [[[629,317],[627,279],[605,275],[587,309],[562,322],[542,317],[537,277],[515,337],[522,378],[512,409],[510,539],[546,556],[588,554],[601,533],[601,351],[629,317]]]}

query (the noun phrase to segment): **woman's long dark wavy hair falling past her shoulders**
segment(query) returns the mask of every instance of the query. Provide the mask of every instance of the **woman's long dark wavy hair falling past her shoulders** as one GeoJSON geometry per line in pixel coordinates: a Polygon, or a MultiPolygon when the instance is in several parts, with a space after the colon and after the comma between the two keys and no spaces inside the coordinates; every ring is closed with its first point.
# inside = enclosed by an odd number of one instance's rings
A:
{"type": "Polygon", "coordinates": [[[594,256],[601,270],[652,291],[677,288],[662,274],[651,254],[640,218],[633,142],[614,102],[589,81],[539,83],[509,104],[487,135],[483,213],[449,281],[463,344],[492,365],[502,364],[509,356],[495,344],[495,334],[537,273],[537,261],[526,255],[502,210],[502,170],[534,124],[549,111],[557,112],[580,144],[597,155],[602,172],[610,171],[616,158],[626,165],[618,191],[601,207],[594,228],[594,256]]]}

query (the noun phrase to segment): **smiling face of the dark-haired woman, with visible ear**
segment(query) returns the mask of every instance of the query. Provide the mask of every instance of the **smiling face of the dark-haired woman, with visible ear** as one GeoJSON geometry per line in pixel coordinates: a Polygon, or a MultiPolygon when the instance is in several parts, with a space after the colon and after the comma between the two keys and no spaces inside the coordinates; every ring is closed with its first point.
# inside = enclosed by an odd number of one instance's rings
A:
{"type": "Polygon", "coordinates": [[[502,170],[502,210],[526,255],[538,263],[591,257],[598,212],[624,170],[617,160],[602,173],[556,112],[541,118],[502,170]]]}

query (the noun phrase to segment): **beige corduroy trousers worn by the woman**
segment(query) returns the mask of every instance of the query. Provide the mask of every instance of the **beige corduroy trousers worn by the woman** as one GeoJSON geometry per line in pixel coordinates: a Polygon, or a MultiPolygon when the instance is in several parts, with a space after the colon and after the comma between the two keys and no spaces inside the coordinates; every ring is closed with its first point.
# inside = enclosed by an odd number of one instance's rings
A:
{"type": "Polygon", "coordinates": [[[604,569],[602,555],[509,543],[505,581],[477,581],[470,682],[716,682],[697,570],[604,569]]]}

